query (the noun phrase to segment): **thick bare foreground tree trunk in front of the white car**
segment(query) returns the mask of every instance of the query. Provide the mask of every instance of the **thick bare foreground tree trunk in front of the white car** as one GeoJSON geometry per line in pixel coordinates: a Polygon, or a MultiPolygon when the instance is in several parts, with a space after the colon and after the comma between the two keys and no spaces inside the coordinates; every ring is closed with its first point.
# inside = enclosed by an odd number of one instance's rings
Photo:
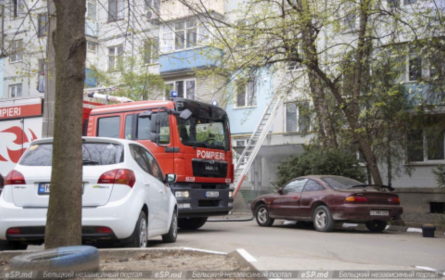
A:
{"type": "Polygon", "coordinates": [[[85,0],[54,0],[56,100],[45,248],[81,244],[85,0]]]}

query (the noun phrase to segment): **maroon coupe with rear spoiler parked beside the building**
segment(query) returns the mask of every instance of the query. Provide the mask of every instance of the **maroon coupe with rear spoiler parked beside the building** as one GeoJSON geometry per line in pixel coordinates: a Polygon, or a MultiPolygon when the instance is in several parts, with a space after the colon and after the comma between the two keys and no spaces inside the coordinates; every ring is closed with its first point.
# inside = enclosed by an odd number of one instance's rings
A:
{"type": "Polygon", "coordinates": [[[291,180],[278,193],[259,196],[251,204],[260,226],[275,219],[312,221],[317,231],[332,231],[336,222],[365,223],[372,232],[381,232],[388,220],[400,218],[400,198],[393,188],[331,175],[303,176],[291,180]]]}

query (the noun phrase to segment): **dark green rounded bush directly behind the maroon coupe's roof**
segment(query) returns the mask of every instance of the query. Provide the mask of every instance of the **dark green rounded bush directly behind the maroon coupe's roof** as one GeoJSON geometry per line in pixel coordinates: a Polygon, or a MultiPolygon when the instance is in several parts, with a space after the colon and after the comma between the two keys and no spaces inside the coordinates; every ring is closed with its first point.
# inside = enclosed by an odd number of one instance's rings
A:
{"type": "Polygon", "coordinates": [[[335,149],[311,149],[305,154],[283,160],[275,174],[275,188],[283,187],[291,179],[307,175],[338,175],[364,182],[366,174],[356,153],[335,149]]]}

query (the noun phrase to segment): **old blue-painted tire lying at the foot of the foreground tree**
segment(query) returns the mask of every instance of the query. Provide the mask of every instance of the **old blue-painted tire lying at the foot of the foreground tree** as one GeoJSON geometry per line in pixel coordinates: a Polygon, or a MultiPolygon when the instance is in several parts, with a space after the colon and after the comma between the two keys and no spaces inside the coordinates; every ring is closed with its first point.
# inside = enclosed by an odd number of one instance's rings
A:
{"type": "Polygon", "coordinates": [[[93,246],[68,246],[15,256],[10,270],[94,272],[99,269],[99,252],[93,246]]]}

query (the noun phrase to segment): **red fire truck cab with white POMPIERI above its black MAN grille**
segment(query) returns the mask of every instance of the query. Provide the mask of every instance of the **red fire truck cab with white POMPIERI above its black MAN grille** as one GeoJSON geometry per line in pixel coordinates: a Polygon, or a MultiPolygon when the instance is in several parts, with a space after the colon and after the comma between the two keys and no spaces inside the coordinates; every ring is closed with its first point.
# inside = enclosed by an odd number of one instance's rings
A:
{"type": "Polygon", "coordinates": [[[177,175],[170,188],[180,228],[200,228],[207,217],[231,211],[232,152],[222,108],[182,98],[103,105],[93,108],[85,127],[87,136],[138,141],[164,174],[177,175]]]}

